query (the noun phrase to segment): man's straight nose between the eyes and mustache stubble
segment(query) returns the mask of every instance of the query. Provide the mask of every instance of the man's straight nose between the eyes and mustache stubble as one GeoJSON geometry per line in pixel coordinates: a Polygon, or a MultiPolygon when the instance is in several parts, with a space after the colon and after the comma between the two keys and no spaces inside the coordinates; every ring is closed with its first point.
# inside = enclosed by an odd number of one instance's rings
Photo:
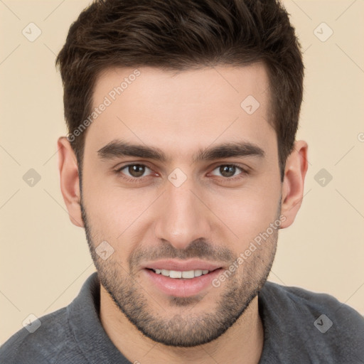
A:
{"type": "Polygon", "coordinates": [[[168,181],[156,206],[156,238],[181,250],[196,239],[209,240],[213,214],[205,198],[190,178],[178,187],[168,181]]]}

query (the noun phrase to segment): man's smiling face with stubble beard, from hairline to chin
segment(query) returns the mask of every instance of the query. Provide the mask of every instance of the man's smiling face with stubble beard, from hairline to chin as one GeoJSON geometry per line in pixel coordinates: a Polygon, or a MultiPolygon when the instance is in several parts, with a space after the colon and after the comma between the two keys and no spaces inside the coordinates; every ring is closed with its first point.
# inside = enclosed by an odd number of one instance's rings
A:
{"type": "Polygon", "coordinates": [[[154,341],[218,338],[267,280],[282,198],[268,86],[261,64],[97,80],[82,219],[102,286],[154,341]]]}

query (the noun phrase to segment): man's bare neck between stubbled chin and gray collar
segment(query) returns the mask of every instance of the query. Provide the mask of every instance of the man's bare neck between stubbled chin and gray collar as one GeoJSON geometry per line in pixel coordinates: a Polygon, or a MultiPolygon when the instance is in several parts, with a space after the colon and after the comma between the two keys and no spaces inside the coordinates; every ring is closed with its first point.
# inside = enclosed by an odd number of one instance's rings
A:
{"type": "Polygon", "coordinates": [[[258,296],[223,335],[210,343],[180,348],[165,346],[144,336],[114,304],[102,285],[100,289],[102,326],[114,346],[131,363],[259,363],[264,329],[258,311],[258,296]]]}

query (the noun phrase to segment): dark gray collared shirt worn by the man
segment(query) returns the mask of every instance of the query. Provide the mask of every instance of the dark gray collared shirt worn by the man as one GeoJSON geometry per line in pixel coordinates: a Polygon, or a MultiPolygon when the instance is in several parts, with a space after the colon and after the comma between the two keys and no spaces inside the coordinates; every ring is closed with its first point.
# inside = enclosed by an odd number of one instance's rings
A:
{"type": "MultiPolygon", "coordinates": [[[[364,318],[333,296],[266,282],[258,302],[264,326],[259,364],[364,363],[364,318]]],[[[0,364],[130,364],[99,313],[95,272],[71,304],[41,317],[36,331],[22,328],[11,336],[0,347],[0,364]]]]}

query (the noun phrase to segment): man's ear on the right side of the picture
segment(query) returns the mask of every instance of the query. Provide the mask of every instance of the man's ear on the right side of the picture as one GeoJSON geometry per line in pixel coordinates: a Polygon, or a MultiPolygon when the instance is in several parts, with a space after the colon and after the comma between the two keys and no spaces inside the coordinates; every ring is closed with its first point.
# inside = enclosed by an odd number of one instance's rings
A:
{"type": "Polygon", "coordinates": [[[304,178],[308,168],[306,141],[299,140],[294,143],[294,149],[289,154],[284,168],[284,181],[282,186],[282,219],[281,228],[288,228],[296,218],[304,198],[304,178]]]}

